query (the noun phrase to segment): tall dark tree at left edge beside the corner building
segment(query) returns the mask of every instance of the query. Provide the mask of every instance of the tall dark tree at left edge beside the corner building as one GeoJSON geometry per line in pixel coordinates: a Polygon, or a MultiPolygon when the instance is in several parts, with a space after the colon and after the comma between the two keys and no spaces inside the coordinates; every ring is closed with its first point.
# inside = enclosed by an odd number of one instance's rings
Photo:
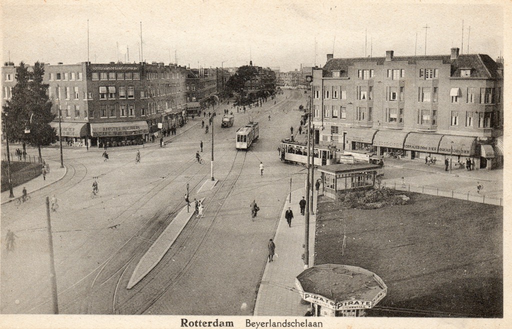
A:
{"type": "Polygon", "coordinates": [[[56,140],[55,129],[49,124],[55,114],[51,112],[52,102],[47,94],[49,84],[43,83],[44,74],[44,64],[37,61],[30,72],[21,62],[16,68],[12,98],[4,106],[9,138],[22,141],[24,149],[25,143],[37,147],[39,159],[42,158],[41,146],[50,145],[56,140]],[[26,128],[30,129],[29,134],[25,134],[26,128]]]}

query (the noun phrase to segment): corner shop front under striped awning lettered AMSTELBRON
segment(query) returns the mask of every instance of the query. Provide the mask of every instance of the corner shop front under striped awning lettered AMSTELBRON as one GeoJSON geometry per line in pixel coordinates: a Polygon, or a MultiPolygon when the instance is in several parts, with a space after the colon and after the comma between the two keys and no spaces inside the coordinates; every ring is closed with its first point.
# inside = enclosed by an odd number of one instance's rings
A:
{"type": "Polygon", "coordinates": [[[91,123],[91,143],[98,147],[140,145],[148,133],[146,121],[91,123]]]}

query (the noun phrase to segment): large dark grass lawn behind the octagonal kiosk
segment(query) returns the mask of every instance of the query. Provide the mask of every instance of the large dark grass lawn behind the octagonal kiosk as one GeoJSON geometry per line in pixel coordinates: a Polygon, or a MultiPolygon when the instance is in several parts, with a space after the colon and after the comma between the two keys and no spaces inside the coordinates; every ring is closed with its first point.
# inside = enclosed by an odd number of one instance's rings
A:
{"type": "Polygon", "coordinates": [[[368,316],[503,317],[503,208],[404,194],[409,205],[343,211],[320,196],[315,265],[358,266],[380,276],[388,294],[377,306],[397,310],[368,316]]]}

